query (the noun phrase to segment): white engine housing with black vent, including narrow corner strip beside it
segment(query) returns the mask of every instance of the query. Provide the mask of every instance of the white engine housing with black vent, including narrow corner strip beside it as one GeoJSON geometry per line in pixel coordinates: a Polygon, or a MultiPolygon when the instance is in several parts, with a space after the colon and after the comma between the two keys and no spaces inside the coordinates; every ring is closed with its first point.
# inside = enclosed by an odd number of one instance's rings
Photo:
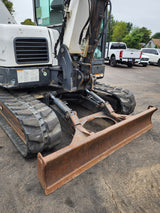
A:
{"type": "MultiPolygon", "coordinates": [[[[46,27],[38,26],[25,26],[25,25],[9,25],[9,24],[0,24],[0,64],[2,67],[20,67],[20,66],[34,66],[34,65],[56,65],[57,60],[54,57],[54,46],[59,36],[57,30],[47,29],[46,27]],[[16,39],[44,39],[46,40],[48,47],[48,61],[36,61],[34,62],[29,60],[27,63],[17,63],[16,60],[16,39]]],[[[24,41],[25,43],[25,41],[24,41]]],[[[28,50],[34,51],[34,46],[37,45],[34,42],[29,43],[29,47],[23,48],[22,54],[28,50]]],[[[41,45],[41,44],[40,44],[41,45]]],[[[22,43],[23,46],[23,43],[22,43]]],[[[43,51],[43,46],[39,47],[43,51]]],[[[27,52],[28,53],[28,52],[27,52]]],[[[33,57],[36,57],[34,53],[33,57]]],[[[20,56],[21,57],[21,56],[20,56]]],[[[27,56],[29,57],[29,56],[27,56]]],[[[32,56],[31,56],[32,57],[32,56]]],[[[38,54],[37,54],[38,57],[38,54]]]]}

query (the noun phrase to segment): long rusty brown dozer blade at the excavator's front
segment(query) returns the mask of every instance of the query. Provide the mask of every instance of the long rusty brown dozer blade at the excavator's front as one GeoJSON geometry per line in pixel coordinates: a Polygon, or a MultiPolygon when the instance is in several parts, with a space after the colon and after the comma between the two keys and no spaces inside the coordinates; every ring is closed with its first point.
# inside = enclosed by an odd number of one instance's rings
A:
{"type": "Polygon", "coordinates": [[[156,110],[150,107],[90,135],[76,129],[74,142],[69,146],[45,157],[39,153],[38,179],[46,195],[151,129],[151,116],[156,110]]]}

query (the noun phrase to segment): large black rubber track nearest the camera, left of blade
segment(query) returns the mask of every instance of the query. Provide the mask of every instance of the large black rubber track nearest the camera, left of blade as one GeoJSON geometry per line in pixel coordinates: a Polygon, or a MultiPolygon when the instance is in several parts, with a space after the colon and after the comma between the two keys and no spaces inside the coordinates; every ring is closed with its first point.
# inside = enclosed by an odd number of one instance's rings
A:
{"type": "Polygon", "coordinates": [[[15,97],[6,90],[0,90],[0,102],[18,119],[23,129],[26,144],[21,140],[12,142],[24,157],[56,148],[61,143],[61,127],[54,111],[31,95],[15,97]]]}

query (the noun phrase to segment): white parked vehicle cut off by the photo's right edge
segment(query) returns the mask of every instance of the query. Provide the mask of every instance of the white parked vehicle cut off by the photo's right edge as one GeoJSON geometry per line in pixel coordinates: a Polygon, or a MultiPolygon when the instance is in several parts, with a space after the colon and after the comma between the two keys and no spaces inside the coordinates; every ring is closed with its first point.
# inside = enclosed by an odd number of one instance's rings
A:
{"type": "Polygon", "coordinates": [[[160,66],[160,49],[157,48],[142,48],[143,55],[149,57],[150,64],[160,66]]]}

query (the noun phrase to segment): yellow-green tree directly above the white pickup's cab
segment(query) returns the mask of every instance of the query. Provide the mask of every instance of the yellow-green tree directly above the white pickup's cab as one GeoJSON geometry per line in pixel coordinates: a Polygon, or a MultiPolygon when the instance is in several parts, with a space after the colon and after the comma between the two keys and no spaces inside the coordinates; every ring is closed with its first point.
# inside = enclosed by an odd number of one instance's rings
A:
{"type": "Polygon", "coordinates": [[[112,41],[122,41],[122,39],[128,34],[127,23],[126,22],[116,22],[114,24],[112,41]]]}

